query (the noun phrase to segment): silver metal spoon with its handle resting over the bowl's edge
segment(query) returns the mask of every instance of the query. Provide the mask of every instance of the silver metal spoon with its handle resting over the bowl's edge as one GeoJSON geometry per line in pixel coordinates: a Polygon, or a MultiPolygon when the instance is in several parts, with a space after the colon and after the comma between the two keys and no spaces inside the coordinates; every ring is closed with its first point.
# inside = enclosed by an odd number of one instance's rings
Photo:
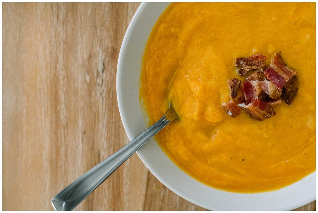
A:
{"type": "Polygon", "coordinates": [[[108,178],[122,163],[134,154],[142,145],[158,133],[171,121],[179,119],[174,109],[169,104],[168,112],[155,124],[142,132],[127,145],[122,147],[91,170],[77,178],[73,183],[52,198],[51,203],[55,210],[73,210],[106,178],[108,178]]]}

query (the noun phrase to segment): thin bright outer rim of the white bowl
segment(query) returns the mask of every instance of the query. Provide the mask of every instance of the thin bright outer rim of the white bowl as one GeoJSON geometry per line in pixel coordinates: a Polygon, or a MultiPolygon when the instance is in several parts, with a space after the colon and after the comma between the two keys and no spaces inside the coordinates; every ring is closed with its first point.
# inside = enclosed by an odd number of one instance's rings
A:
{"type": "MultiPolygon", "coordinates": [[[[121,121],[122,121],[122,124],[124,126],[124,129],[125,129],[125,132],[128,136],[128,139],[129,140],[132,140],[134,139],[134,134],[133,132],[130,130],[129,128],[129,125],[128,125],[128,121],[126,119],[126,116],[125,116],[125,113],[124,113],[124,106],[123,106],[123,103],[122,103],[122,97],[121,97],[121,85],[122,85],[122,82],[120,81],[121,80],[121,76],[122,76],[122,67],[123,67],[123,53],[126,51],[126,48],[127,48],[127,45],[128,45],[128,40],[129,40],[129,37],[131,36],[131,33],[132,33],[132,30],[135,26],[135,24],[137,23],[139,17],[142,15],[142,12],[146,9],[147,5],[149,3],[148,2],[142,2],[141,5],[138,7],[138,9],[136,10],[134,16],[132,17],[129,25],[128,25],[128,28],[126,30],[126,33],[125,33],[125,36],[123,38],[123,41],[122,41],[122,44],[121,44],[121,48],[120,48],[120,52],[119,52],[119,57],[118,57],[118,62],[117,62],[117,72],[116,72],[116,95],[117,95],[117,103],[118,103],[118,108],[119,108],[119,113],[120,113],[120,116],[121,116],[121,121]]],[[[136,152],[138,157],[141,159],[142,163],[147,167],[147,169],[163,184],[165,185],[169,190],[173,191],[174,193],[176,193],[178,196],[184,198],[185,200],[188,200],[189,202],[191,203],[194,203],[198,206],[201,206],[203,208],[206,208],[206,209],[211,209],[211,206],[212,205],[205,205],[204,203],[200,203],[198,202],[197,200],[194,200],[192,199],[191,197],[189,197],[187,194],[184,194],[182,191],[180,190],[177,190],[172,184],[169,184],[168,182],[166,182],[164,179],[161,178],[161,175],[156,171],[155,168],[153,168],[148,160],[142,155],[141,152],[137,151],[136,152]]],[[[308,176],[311,176],[311,175],[314,175],[315,176],[316,174],[316,171],[312,172],[311,174],[307,175],[306,177],[308,176]]],[[[285,188],[285,187],[283,187],[285,188]]],[[[282,189],[283,189],[282,188],[282,189]]],[[[230,193],[236,193],[236,192],[230,192],[230,193]]],[[[256,193],[257,194],[257,193],[256,193]]],[[[295,203],[293,205],[290,205],[290,206],[286,206],[284,208],[280,208],[280,209],[273,209],[273,210],[294,210],[296,208],[299,208],[301,206],[304,206],[308,203],[311,203],[313,201],[315,201],[316,197],[315,195],[311,196],[311,197],[308,197],[306,198],[305,200],[302,200],[298,203],[295,203]]],[[[212,206],[213,207],[213,206],[212,206]]],[[[221,208],[218,208],[218,207],[215,207],[213,208],[213,210],[227,210],[227,209],[221,209],[221,208]]]]}

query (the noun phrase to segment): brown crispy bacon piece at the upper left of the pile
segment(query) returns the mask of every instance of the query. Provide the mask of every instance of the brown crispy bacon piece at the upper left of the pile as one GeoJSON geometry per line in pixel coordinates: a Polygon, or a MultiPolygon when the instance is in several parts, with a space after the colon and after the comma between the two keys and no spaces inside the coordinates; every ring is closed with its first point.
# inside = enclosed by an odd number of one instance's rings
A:
{"type": "Polygon", "coordinates": [[[235,58],[235,67],[238,67],[237,73],[245,75],[251,69],[259,69],[265,66],[266,56],[255,54],[246,58],[235,58]]]}

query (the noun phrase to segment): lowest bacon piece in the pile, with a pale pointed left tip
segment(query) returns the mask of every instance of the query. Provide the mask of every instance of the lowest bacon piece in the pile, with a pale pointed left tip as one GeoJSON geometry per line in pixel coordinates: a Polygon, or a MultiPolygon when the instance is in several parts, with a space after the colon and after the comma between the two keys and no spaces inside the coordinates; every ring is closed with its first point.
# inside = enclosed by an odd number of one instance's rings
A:
{"type": "Polygon", "coordinates": [[[276,115],[271,106],[258,98],[254,98],[249,104],[239,104],[252,119],[265,120],[273,115],[276,115]]]}

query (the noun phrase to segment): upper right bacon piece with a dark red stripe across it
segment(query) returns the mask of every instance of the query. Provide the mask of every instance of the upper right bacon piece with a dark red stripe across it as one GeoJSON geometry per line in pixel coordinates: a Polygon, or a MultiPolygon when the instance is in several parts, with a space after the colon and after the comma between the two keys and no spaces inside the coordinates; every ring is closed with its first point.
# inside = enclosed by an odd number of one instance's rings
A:
{"type": "Polygon", "coordinates": [[[275,53],[271,64],[266,68],[264,74],[276,87],[282,89],[286,82],[297,74],[297,70],[287,67],[280,53],[275,53]]]}

